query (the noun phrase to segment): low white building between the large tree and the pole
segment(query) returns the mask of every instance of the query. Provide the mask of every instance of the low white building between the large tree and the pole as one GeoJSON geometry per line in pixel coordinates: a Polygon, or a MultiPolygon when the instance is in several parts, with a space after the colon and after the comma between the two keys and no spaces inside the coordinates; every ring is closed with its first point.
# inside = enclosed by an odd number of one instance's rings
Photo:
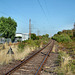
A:
{"type": "Polygon", "coordinates": [[[15,42],[28,40],[28,38],[29,38],[28,33],[16,33],[15,34],[15,42]]]}

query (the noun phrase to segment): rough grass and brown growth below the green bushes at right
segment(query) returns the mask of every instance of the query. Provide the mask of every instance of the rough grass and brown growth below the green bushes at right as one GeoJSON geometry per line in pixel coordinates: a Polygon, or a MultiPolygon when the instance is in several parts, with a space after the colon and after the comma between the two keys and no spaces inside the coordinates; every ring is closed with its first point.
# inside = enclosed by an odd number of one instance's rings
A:
{"type": "Polygon", "coordinates": [[[56,72],[58,75],[74,75],[75,74],[75,41],[59,43],[60,51],[58,55],[58,68],[56,72]],[[64,51],[62,50],[63,48],[64,51]]]}

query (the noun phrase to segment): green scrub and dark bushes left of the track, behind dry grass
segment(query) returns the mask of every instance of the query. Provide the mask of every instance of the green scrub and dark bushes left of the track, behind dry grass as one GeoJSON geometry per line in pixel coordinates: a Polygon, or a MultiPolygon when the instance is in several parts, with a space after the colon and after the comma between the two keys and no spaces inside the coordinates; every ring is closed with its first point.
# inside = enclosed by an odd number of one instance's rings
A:
{"type": "Polygon", "coordinates": [[[26,46],[33,47],[33,48],[40,48],[43,45],[47,44],[49,41],[48,34],[43,35],[43,36],[36,36],[36,34],[32,34],[31,36],[32,36],[31,39],[25,40],[25,41],[22,41],[21,43],[19,43],[19,45],[18,45],[19,52],[22,52],[26,46]],[[37,39],[37,37],[38,37],[38,39],[37,39]],[[41,39],[40,39],[40,37],[41,37],[41,39]]]}

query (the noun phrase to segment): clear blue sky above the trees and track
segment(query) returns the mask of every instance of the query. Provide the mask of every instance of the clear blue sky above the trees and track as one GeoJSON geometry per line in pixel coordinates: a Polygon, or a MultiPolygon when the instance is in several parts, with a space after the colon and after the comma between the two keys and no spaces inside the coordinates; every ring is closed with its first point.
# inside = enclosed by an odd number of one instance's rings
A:
{"type": "Polygon", "coordinates": [[[73,29],[75,0],[0,0],[0,17],[11,17],[17,22],[16,33],[53,36],[58,31],[73,29]]]}

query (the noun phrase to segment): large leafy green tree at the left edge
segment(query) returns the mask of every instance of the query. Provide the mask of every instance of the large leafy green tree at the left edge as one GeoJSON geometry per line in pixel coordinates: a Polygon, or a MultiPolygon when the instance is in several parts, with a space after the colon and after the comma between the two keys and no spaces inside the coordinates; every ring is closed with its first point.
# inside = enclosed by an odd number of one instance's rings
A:
{"type": "Polygon", "coordinates": [[[0,34],[5,38],[11,38],[14,40],[16,32],[17,23],[11,17],[1,17],[0,18],[0,34]]]}

